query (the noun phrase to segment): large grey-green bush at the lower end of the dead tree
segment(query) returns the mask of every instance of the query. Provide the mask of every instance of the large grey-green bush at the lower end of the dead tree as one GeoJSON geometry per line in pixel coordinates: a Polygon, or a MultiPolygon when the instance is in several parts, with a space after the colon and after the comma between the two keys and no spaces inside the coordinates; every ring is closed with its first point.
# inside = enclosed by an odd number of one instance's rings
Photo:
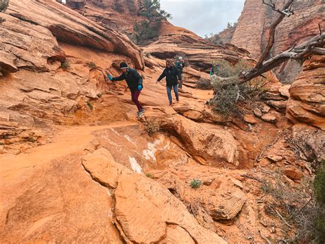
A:
{"type": "Polygon", "coordinates": [[[239,74],[252,66],[247,61],[241,60],[232,65],[227,60],[217,60],[213,65],[217,65],[219,71],[211,81],[215,97],[210,100],[210,105],[224,116],[241,115],[242,109],[239,108],[239,104],[245,102],[253,104],[265,92],[267,80],[264,78],[255,78],[250,82],[239,84],[239,74]]]}

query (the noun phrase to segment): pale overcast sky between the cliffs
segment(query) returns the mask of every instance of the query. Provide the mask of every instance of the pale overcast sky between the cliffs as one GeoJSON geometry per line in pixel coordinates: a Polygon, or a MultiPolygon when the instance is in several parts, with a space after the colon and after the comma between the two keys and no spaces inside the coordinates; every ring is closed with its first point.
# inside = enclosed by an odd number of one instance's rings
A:
{"type": "Polygon", "coordinates": [[[219,33],[241,15],[245,0],[160,0],[161,9],[172,14],[171,23],[199,36],[219,33]]]}

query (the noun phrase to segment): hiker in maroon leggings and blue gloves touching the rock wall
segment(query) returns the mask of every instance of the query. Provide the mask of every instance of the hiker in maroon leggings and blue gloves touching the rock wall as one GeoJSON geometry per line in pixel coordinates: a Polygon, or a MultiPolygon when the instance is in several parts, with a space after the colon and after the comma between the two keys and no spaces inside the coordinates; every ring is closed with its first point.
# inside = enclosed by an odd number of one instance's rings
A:
{"type": "Polygon", "coordinates": [[[141,106],[139,102],[139,96],[141,93],[141,90],[143,89],[143,80],[140,74],[135,70],[128,67],[126,63],[121,63],[119,67],[122,70],[122,74],[119,77],[112,77],[109,74],[107,77],[112,81],[119,81],[119,80],[126,80],[126,83],[128,84],[128,87],[130,88],[131,94],[132,94],[132,101],[134,104],[136,104],[136,107],[138,108],[138,117],[143,115],[145,109],[141,106]]]}

